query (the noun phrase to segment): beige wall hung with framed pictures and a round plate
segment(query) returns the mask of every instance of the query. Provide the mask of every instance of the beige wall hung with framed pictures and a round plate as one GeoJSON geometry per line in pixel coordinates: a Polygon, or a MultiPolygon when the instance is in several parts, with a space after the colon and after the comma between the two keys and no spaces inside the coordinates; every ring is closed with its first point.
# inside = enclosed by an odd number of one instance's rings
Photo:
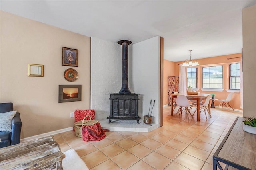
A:
{"type": "Polygon", "coordinates": [[[20,112],[21,138],[71,127],[70,112],[90,108],[90,37],[1,11],[0,102],[20,112]],[[78,67],[61,65],[62,46],[78,49],[78,67]],[[44,77],[28,77],[28,64],[44,65],[44,77]],[[68,68],[78,80],[64,79],[68,68]],[[82,101],[58,103],[60,84],[82,84],[82,101]]]}

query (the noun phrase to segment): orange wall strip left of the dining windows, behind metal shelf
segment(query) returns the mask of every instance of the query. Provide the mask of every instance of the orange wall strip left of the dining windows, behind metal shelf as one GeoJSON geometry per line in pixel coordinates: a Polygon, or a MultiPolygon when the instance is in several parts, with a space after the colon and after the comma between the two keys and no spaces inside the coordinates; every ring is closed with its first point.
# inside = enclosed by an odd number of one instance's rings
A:
{"type": "Polygon", "coordinates": [[[164,60],[164,105],[168,104],[168,77],[170,76],[176,76],[175,72],[174,72],[174,68],[175,68],[175,63],[173,61],[169,61],[169,60],[164,60]]]}

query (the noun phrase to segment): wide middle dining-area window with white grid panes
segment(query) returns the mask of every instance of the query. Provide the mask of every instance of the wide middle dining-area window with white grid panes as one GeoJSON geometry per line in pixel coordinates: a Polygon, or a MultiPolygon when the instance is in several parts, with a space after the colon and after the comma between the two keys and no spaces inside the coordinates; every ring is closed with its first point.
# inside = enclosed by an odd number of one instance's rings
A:
{"type": "Polygon", "coordinates": [[[223,89],[223,66],[203,67],[203,88],[223,89]]]}

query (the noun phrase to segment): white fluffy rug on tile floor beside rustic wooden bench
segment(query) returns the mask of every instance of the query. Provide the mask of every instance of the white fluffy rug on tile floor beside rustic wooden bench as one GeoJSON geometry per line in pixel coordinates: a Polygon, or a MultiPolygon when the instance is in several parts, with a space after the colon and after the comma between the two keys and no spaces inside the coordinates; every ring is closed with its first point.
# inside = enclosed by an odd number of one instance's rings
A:
{"type": "Polygon", "coordinates": [[[67,150],[63,153],[66,155],[62,160],[63,170],[89,170],[74,149],[67,150]]]}

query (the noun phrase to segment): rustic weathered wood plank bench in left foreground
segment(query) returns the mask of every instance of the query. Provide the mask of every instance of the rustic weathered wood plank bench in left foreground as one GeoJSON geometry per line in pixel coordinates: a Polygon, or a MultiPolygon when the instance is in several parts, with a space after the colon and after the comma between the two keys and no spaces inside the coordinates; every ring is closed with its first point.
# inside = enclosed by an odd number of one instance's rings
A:
{"type": "Polygon", "coordinates": [[[0,149],[1,170],[63,170],[65,154],[52,136],[0,149]]]}

